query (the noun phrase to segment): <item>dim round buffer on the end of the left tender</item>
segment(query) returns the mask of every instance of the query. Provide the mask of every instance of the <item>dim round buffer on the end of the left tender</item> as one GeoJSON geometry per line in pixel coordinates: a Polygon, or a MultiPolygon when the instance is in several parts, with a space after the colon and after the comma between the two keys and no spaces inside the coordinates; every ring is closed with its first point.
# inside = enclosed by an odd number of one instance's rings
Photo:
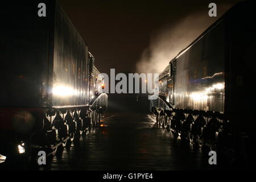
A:
{"type": "Polygon", "coordinates": [[[13,116],[13,128],[18,133],[26,134],[32,130],[34,125],[35,118],[26,110],[18,111],[18,113],[13,116]]]}

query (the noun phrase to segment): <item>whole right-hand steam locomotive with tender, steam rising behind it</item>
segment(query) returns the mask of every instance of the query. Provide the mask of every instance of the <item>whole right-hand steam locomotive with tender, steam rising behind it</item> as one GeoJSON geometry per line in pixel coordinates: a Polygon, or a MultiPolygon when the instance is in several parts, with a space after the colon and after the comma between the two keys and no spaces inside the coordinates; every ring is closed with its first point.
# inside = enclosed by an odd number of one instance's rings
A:
{"type": "Polygon", "coordinates": [[[156,122],[245,159],[255,135],[255,2],[229,9],[159,75],[156,122]],[[243,157],[242,157],[243,156],[243,157]]]}

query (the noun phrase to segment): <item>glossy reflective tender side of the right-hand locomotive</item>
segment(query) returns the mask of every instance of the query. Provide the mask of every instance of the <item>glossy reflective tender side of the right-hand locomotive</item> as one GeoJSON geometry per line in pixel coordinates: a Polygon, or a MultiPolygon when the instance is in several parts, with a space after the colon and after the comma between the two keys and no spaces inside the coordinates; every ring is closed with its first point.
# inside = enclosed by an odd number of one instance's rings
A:
{"type": "Polygon", "coordinates": [[[218,22],[177,56],[175,108],[224,112],[224,30],[218,22]]]}

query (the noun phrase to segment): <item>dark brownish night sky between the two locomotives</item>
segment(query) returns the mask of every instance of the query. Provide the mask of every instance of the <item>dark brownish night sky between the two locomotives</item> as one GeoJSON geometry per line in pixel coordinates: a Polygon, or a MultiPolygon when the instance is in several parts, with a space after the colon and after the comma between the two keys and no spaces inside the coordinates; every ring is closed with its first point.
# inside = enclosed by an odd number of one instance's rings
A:
{"type": "Polygon", "coordinates": [[[218,16],[238,2],[59,1],[96,57],[96,66],[105,73],[109,73],[110,68],[115,68],[116,72],[137,72],[136,64],[159,30],[197,12],[208,17],[208,24],[211,24],[217,18],[208,16],[210,2],[217,4],[218,16]]]}

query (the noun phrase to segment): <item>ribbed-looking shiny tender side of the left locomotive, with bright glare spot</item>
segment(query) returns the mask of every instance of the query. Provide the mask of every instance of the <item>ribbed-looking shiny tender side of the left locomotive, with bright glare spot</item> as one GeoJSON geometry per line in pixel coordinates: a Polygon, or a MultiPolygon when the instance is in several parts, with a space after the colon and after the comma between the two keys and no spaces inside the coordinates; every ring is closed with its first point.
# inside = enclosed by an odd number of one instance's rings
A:
{"type": "Polygon", "coordinates": [[[59,5],[54,41],[52,106],[88,104],[88,47],[59,5]]]}

